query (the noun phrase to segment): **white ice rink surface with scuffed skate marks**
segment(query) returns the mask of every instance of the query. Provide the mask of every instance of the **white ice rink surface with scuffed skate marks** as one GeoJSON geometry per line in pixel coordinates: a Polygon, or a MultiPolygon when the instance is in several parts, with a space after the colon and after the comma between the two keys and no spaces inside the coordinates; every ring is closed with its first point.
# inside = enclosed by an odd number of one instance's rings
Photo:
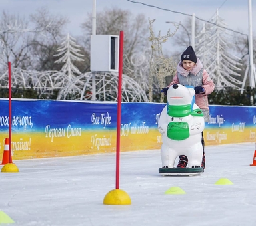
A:
{"type": "Polygon", "coordinates": [[[115,189],[115,153],[16,160],[19,173],[0,174],[0,211],[24,226],[255,226],[254,151],[255,143],[206,146],[205,172],[191,177],[160,175],[159,150],[121,152],[119,189],[131,205],[103,204],[115,189]],[[185,194],[165,194],[171,187],[185,194]]]}

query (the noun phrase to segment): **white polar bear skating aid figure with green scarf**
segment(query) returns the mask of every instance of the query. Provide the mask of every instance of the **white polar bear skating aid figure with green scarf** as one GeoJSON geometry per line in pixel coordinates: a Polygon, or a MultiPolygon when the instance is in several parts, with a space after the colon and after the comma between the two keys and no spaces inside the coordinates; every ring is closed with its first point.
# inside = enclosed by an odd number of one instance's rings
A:
{"type": "Polygon", "coordinates": [[[201,167],[205,128],[203,112],[195,104],[195,90],[173,84],[167,91],[167,106],[159,118],[158,130],[162,134],[161,160],[163,168],[174,168],[179,155],[188,158],[187,167],[201,167]]]}

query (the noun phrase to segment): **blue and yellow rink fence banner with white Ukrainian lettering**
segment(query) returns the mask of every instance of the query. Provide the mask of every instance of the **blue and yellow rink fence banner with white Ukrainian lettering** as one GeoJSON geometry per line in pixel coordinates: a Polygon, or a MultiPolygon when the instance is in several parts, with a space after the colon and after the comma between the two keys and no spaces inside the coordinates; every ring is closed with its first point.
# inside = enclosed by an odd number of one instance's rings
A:
{"type": "MultiPolygon", "coordinates": [[[[0,153],[9,137],[9,100],[1,99],[0,153]]],[[[121,152],[161,148],[157,130],[165,104],[121,104],[121,152]]],[[[210,106],[205,144],[256,142],[255,106],[210,106]]],[[[116,151],[117,102],[12,100],[13,160],[116,151]]]]}

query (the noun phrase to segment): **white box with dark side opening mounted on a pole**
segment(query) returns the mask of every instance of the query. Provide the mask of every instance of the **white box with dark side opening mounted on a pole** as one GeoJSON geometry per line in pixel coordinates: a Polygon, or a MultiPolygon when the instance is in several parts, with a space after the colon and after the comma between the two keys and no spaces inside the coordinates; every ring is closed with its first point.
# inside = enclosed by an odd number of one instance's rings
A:
{"type": "Polygon", "coordinates": [[[118,35],[91,35],[91,71],[117,72],[118,55],[118,35]]]}

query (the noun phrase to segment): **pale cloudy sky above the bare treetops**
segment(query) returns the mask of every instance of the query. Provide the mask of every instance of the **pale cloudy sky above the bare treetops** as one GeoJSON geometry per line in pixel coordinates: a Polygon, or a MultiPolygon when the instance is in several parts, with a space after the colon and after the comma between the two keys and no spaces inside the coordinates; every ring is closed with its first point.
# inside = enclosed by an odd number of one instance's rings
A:
{"type": "MultiPolygon", "coordinates": [[[[67,32],[71,33],[73,37],[83,35],[81,31],[81,23],[85,21],[87,13],[93,11],[93,2],[96,4],[96,11],[103,11],[106,8],[119,7],[121,9],[128,9],[135,15],[144,13],[150,19],[156,19],[155,31],[161,30],[161,33],[167,32],[169,28],[174,28],[166,21],[175,21],[177,23],[184,22],[188,17],[181,13],[192,15],[195,13],[196,17],[204,20],[209,20],[215,15],[216,10],[219,9],[219,16],[225,20],[230,29],[240,31],[242,33],[249,33],[248,29],[248,2],[247,0],[139,0],[132,3],[127,0],[1,0],[1,10],[9,13],[19,13],[21,16],[27,16],[30,13],[35,13],[39,7],[48,7],[51,13],[57,15],[65,15],[69,18],[70,23],[67,27],[67,32]],[[153,5],[159,8],[177,11],[180,13],[173,13],[171,11],[163,11],[155,7],[143,5],[153,5]]],[[[253,21],[256,21],[256,1],[252,2],[252,16],[253,21]]],[[[256,22],[253,23],[253,29],[256,29],[256,22]]],[[[111,34],[110,34],[111,35],[111,34]]]]}

